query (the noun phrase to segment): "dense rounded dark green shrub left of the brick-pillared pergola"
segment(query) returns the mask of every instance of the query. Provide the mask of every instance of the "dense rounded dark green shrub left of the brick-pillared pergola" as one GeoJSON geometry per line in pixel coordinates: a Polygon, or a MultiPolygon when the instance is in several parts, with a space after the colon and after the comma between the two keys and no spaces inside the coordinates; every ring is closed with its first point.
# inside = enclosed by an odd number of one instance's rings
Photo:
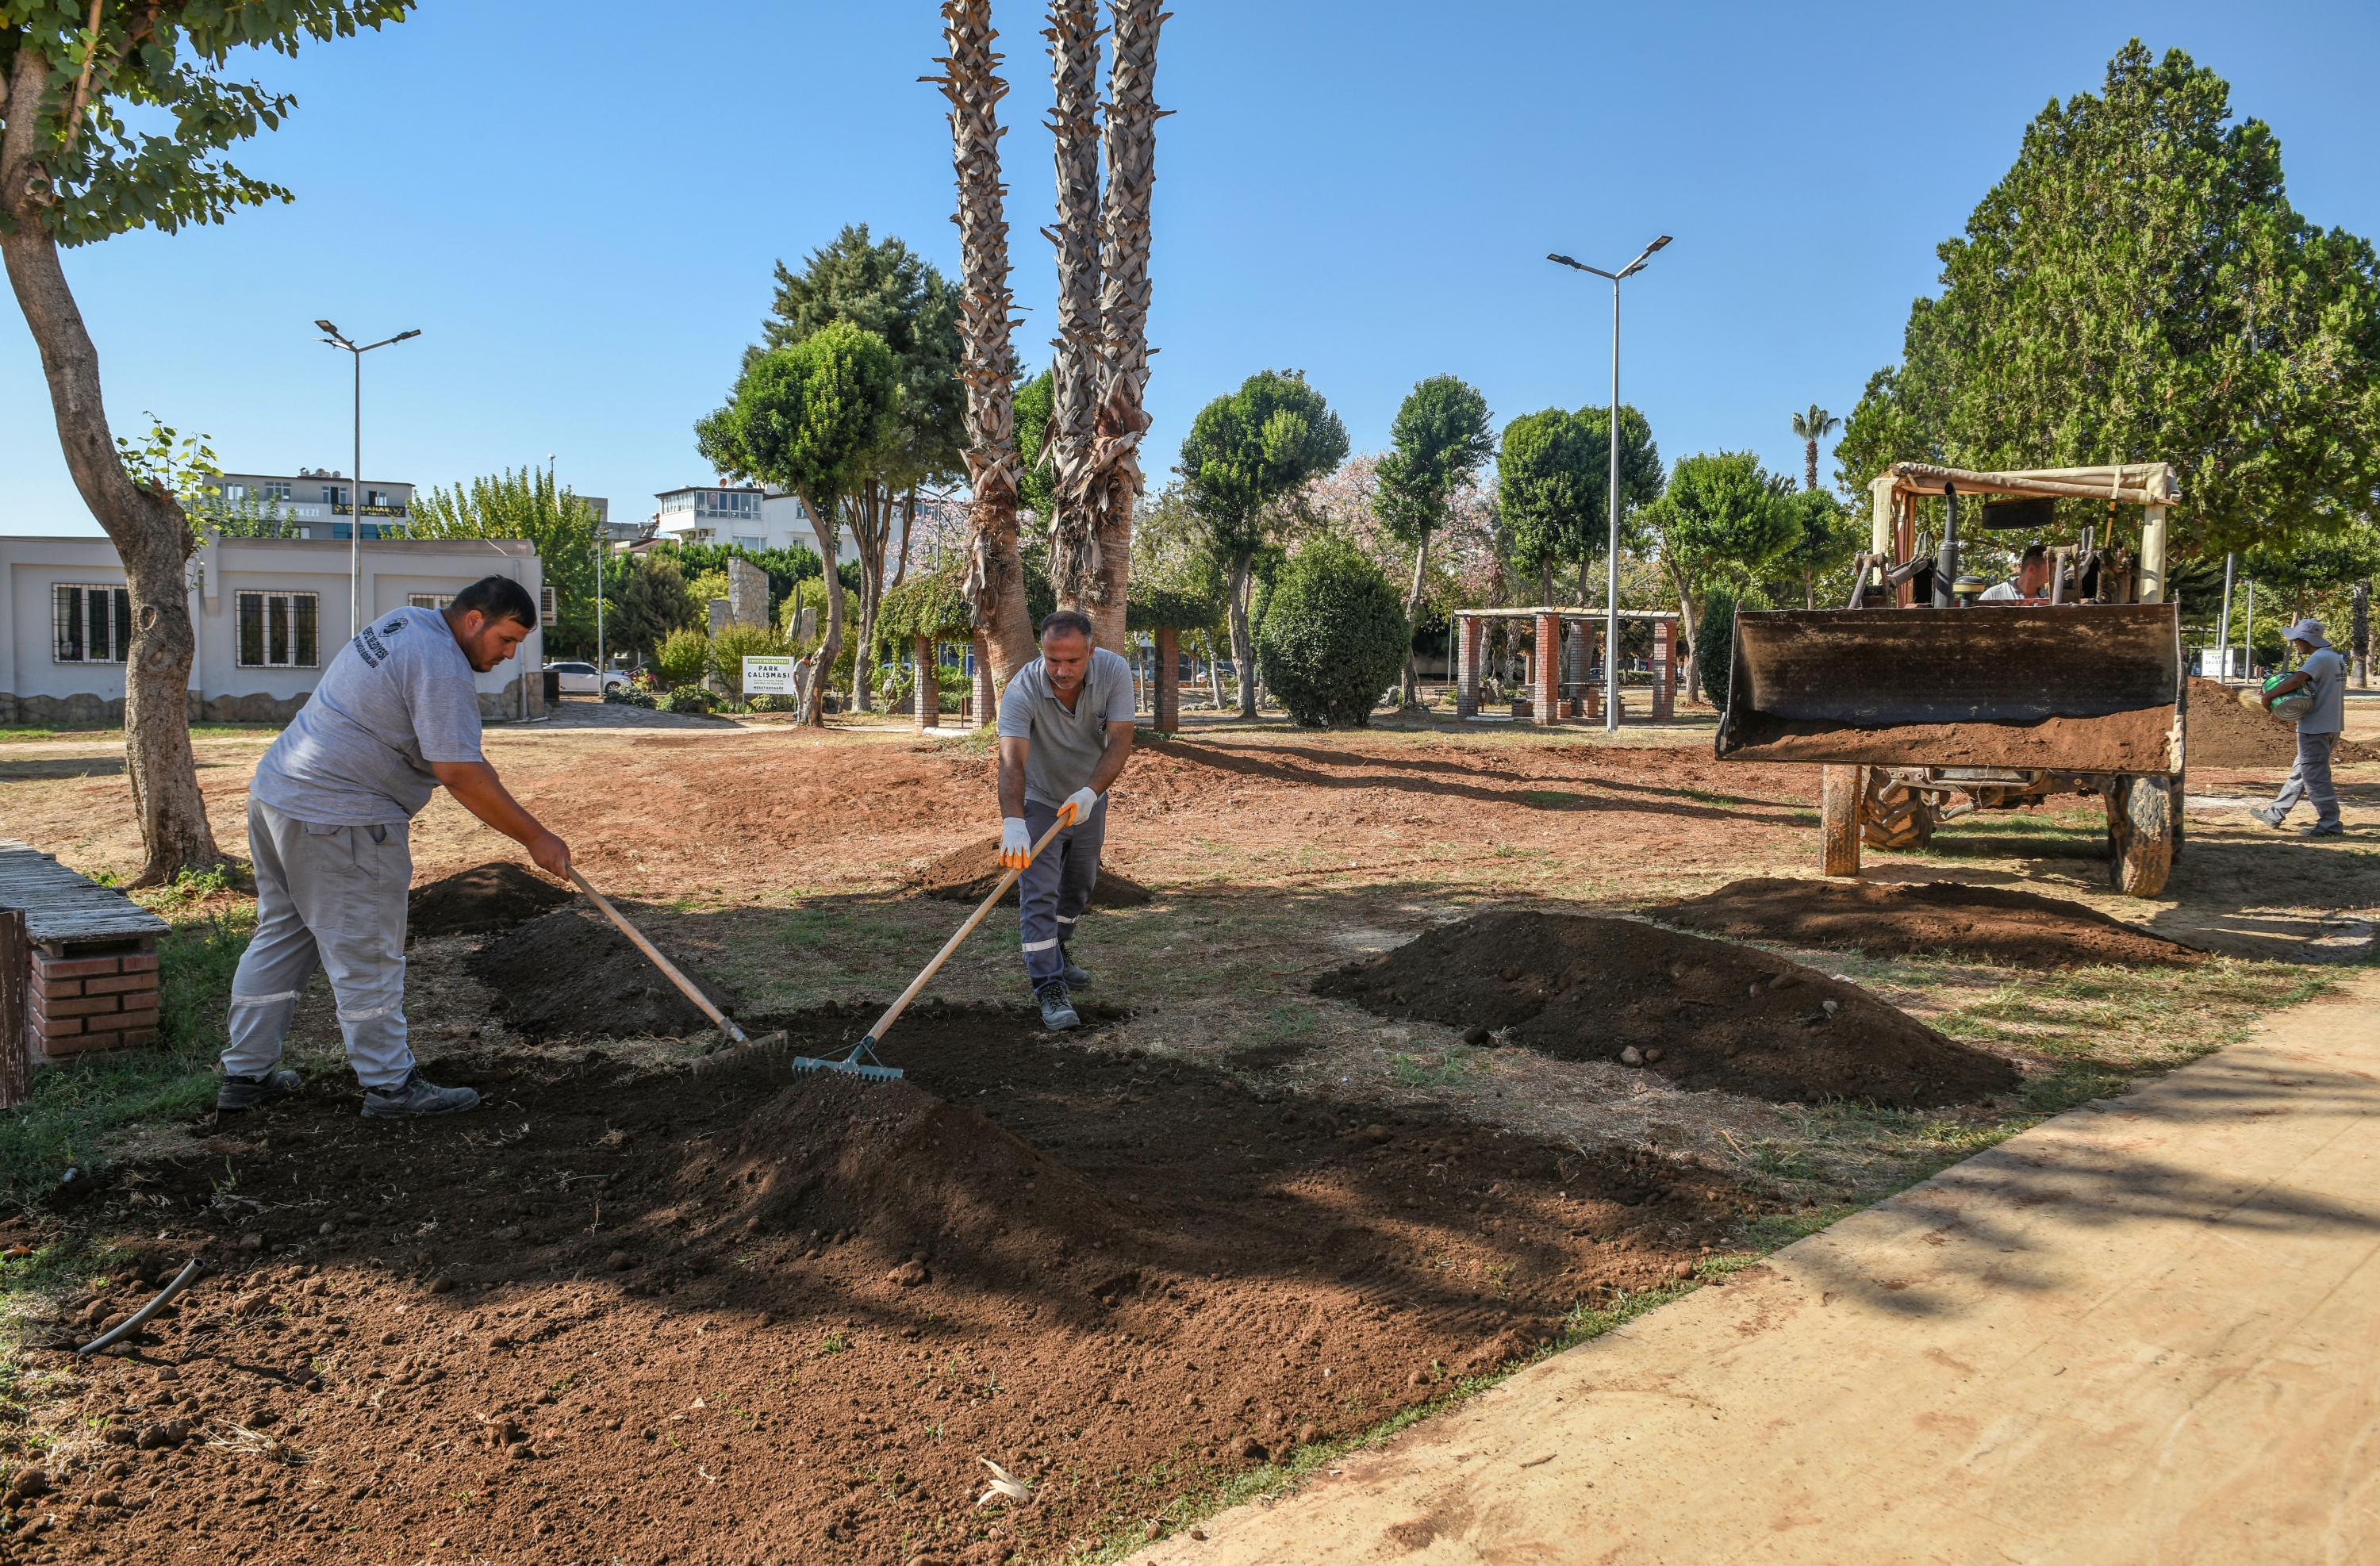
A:
{"type": "Polygon", "coordinates": [[[1297,724],[1361,726],[1404,671],[1409,643],[1397,588],[1352,543],[1323,538],[1280,571],[1257,664],[1297,724]]]}

